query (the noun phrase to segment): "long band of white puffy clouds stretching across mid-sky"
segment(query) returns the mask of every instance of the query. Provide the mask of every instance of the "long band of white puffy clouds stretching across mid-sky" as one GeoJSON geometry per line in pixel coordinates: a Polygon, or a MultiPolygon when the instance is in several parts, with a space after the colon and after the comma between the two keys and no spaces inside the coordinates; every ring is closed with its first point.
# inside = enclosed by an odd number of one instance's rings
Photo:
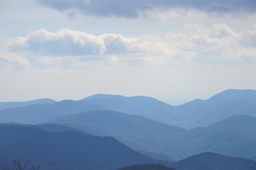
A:
{"type": "Polygon", "coordinates": [[[134,38],[113,33],[92,35],[69,29],[56,33],[36,30],[26,37],[11,40],[9,50],[18,54],[26,52],[44,64],[54,61],[47,57],[58,57],[58,60],[61,57],[75,57],[80,61],[112,62],[139,60],[171,63],[193,59],[221,62],[255,58],[255,40],[255,32],[246,30],[237,33],[226,24],[215,24],[211,27],[186,24],[181,33],[169,32],[163,36],[144,35],[134,38]]]}

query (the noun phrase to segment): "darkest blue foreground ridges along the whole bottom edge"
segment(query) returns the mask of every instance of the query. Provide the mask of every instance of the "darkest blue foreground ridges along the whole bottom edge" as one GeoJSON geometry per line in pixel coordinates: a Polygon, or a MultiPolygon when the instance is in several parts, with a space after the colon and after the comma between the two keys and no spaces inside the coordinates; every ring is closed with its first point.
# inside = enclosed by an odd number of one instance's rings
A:
{"type": "Polygon", "coordinates": [[[178,162],[161,162],[134,152],[112,137],[87,135],[87,132],[53,124],[0,124],[0,134],[0,165],[4,169],[11,169],[13,159],[28,160],[40,169],[49,170],[256,169],[256,162],[250,159],[213,153],[196,154],[178,162]]]}

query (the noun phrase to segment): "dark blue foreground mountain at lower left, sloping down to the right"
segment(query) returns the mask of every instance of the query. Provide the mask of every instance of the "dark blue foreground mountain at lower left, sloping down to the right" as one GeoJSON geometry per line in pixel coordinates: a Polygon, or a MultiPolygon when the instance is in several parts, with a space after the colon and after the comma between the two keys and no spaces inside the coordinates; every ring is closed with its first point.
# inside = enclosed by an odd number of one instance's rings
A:
{"type": "Polygon", "coordinates": [[[132,164],[163,163],[129,149],[113,137],[2,123],[0,134],[0,165],[6,169],[12,159],[29,160],[48,170],[112,170],[132,164]]]}

